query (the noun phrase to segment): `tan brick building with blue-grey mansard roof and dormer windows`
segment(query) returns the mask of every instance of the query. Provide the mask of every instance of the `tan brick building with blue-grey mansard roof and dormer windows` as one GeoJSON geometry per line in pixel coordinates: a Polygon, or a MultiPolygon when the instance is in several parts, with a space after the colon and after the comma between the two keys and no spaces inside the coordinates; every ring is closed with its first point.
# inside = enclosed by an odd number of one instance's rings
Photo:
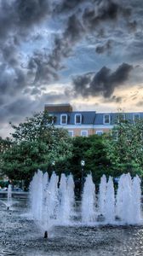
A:
{"type": "Polygon", "coordinates": [[[118,120],[143,119],[143,113],[96,113],[95,111],[73,111],[70,104],[46,104],[51,122],[58,128],[65,128],[71,137],[109,132],[118,120]]]}

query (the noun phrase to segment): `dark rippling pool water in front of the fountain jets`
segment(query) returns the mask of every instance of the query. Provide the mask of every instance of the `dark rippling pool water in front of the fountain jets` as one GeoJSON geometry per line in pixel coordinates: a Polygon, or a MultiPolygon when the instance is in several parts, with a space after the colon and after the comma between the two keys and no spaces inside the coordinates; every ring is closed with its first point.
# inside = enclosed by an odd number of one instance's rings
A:
{"type": "Polygon", "coordinates": [[[27,215],[26,201],[0,201],[0,256],[143,255],[143,226],[54,227],[49,239],[27,215]]]}

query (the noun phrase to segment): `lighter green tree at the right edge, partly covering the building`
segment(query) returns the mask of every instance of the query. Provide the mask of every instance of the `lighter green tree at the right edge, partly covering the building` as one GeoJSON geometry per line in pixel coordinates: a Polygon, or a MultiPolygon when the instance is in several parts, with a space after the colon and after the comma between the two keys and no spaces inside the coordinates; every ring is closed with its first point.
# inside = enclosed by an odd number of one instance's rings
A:
{"type": "Polygon", "coordinates": [[[120,121],[106,137],[106,152],[114,176],[123,172],[143,175],[143,120],[120,121]]]}

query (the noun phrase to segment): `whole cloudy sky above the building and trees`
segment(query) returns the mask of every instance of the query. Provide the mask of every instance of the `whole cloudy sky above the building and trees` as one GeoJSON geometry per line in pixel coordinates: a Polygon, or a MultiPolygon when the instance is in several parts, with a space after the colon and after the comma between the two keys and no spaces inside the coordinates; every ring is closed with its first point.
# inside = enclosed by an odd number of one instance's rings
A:
{"type": "Polygon", "coordinates": [[[45,104],[143,109],[142,0],[0,0],[0,136],[45,104]]]}

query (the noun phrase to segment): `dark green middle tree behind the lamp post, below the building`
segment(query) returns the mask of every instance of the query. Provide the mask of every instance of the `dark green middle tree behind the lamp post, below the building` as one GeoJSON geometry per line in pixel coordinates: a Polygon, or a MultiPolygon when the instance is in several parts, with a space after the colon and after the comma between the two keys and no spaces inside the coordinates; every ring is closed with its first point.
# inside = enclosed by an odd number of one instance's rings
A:
{"type": "Polygon", "coordinates": [[[108,175],[110,161],[103,142],[104,136],[98,135],[73,138],[72,159],[67,167],[75,178],[81,178],[81,160],[85,160],[84,176],[92,172],[95,183],[100,181],[103,173],[108,175]]]}

